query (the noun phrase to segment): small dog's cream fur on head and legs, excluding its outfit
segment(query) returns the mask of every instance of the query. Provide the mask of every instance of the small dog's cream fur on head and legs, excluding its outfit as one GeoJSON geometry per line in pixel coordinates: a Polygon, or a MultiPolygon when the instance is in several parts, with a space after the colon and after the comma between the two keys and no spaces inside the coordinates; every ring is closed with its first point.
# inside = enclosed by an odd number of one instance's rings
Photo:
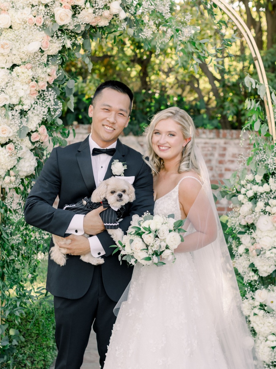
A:
{"type": "MultiPolygon", "coordinates": [[[[135,200],[135,190],[132,184],[128,183],[123,177],[110,177],[99,184],[96,190],[92,193],[91,201],[99,203],[105,198],[107,199],[109,205],[120,208],[121,206],[124,206],[125,204],[131,203],[135,200]]],[[[114,239],[117,245],[118,241],[121,240],[124,235],[124,232],[120,228],[108,229],[107,232],[114,239]]],[[[87,238],[89,237],[87,234],[84,235],[87,238]]],[[[57,242],[63,245],[69,245],[71,240],[53,235],[53,242],[54,246],[50,249],[51,259],[53,259],[53,261],[60,266],[63,266],[66,264],[67,249],[60,248],[59,245],[57,245],[57,242]]],[[[81,255],[80,258],[82,261],[91,263],[93,265],[99,265],[104,262],[103,258],[95,258],[90,252],[88,254],[81,255]]]]}

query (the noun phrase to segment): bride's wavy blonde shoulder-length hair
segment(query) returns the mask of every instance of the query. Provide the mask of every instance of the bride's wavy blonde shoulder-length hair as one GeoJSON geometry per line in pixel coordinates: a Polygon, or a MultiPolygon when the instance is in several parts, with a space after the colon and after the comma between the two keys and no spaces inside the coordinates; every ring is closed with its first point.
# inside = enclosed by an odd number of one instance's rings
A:
{"type": "Polygon", "coordinates": [[[155,130],[156,124],[162,119],[173,119],[176,123],[180,125],[181,131],[183,133],[183,138],[191,137],[191,140],[185,145],[184,155],[181,157],[178,173],[188,172],[189,170],[194,170],[200,175],[197,158],[194,153],[194,143],[195,143],[195,125],[190,117],[190,115],[174,106],[167,108],[165,110],[159,111],[155,114],[151,120],[151,123],[145,130],[146,142],[148,150],[146,155],[143,156],[145,162],[151,167],[152,173],[157,174],[163,168],[164,162],[155,152],[152,147],[152,135],[155,130]],[[147,159],[145,159],[147,158],[147,159]]]}

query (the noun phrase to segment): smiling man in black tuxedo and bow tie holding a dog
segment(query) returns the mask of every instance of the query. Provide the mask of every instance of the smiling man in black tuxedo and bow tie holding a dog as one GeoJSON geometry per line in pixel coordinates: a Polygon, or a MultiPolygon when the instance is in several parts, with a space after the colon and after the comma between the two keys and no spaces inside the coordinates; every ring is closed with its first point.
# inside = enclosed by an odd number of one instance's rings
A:
{"type": "Polygon", "coordinates": [[[116,319],[113,308],[132,274],[126,262],[120,265],[118,256],[112,256],[114,249],[109,246],[114,241],[99,216],[103,208],[84,216],[63,210],[64,205],[90,197],[102,180],[117,175],[112,172],[112,163],[118,160],[127,165],[123,176],[133,183],[136,196],[133,203],[126,205],[120,228],[126,231],[134,214],[142,215],[147,210],[153,213],[151,171],[141,154],[118,140],[128,125],[132,100],[131,90],[121,82],[99,85],[88,111],[91,135],[83,142],[53,149],[26,201],[27,223],[72,239],[66,246],[70,255],[65,266],[50,258],[48,261],[46,289],[54,296],[58,348],[55,369],[81,367],[92,325],[103,368],[116,319]],[[55,209],[52,205],[57,195],[59,206],[55,209]],[[91,237],[87,239],[84,232],[91,237]],[[77,255],[87,252],[101,256],[105,262],[94,266],[81,261],[77,255]]]}

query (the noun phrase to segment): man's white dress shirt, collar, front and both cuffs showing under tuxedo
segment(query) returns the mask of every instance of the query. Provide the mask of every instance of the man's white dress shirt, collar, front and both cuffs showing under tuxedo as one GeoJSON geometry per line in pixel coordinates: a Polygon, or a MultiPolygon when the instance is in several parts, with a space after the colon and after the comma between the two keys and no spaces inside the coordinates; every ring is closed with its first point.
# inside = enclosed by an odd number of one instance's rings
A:
{"type": "MultiPolygon", "coordinates": [[[[117,141],[114,142],[112,145],[106,147],[105,149],[116,148],[116,144],[117,144],[117,141]]],[[[94,175],[96,187],[98,187],[100,182],[102,182],[103,179],[105,178],[105,173],[109,165],[109,162],[112,159],[112,156],[107,155],[107,154],[99,154],[99,155],[92,156],[93,148],[98,148],[98,149],[102,149],[102,148],[99,145],[97,145],[95,141],[92,140],[91,135],[89,135],[89,147],[90,147],[90,154],[91,154],[91,160],[92,160],[93,175],[94,175]]],[[[76,235],[84,234],[83,224],[84,224],[84,215],[75,214],[67,228],[66,233],[76,234],[76,235]]],[[[100,243],[100,240],[97,236],[89,237],[88,241],[90,244],[90,250],[91,250],[92,256],[95,256],[97,258],[98,256],[102,256],[105,254],[105,250],[103,249],[103,246],[100,243]]]]}

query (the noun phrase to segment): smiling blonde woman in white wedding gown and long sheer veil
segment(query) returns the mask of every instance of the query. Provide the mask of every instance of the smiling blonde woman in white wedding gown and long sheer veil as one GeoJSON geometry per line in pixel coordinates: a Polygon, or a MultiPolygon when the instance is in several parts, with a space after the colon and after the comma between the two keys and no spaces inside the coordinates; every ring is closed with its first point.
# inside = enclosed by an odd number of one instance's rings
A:
{"type": "Polygon", "coordinates": [[[177,107],[146,131],[159,215],[186,219],[174,263],[134,267],[105,369],[253,369],[253,339],[191,117],[177,107]]]}

